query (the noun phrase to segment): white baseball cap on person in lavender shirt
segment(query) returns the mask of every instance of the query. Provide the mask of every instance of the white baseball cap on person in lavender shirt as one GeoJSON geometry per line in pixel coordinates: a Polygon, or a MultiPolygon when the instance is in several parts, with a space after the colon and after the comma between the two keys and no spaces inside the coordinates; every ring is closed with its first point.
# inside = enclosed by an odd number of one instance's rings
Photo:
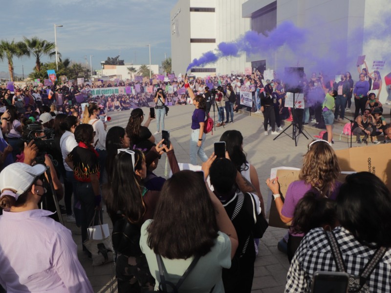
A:
{"type": "Polygon", "coordinates": [[[45,170],[46,167],[42,164],[33,167],[24,163],[8,165],[0,173],[0,191],[6,188],[15,190],[14,197],[17,200],[45,170]]]}

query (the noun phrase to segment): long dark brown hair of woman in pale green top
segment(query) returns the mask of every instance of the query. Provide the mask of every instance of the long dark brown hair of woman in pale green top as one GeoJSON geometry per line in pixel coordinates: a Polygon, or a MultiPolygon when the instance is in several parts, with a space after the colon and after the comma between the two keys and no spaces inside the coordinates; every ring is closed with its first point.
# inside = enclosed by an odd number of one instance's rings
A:
{"type": "Polygon", "coordinates": [[[169,259],[203,256],[215,245],[217,231],[215,209],[202,178],[190,170],[175,173],[160,193],[148,227],[148,246],[169,259]]]}

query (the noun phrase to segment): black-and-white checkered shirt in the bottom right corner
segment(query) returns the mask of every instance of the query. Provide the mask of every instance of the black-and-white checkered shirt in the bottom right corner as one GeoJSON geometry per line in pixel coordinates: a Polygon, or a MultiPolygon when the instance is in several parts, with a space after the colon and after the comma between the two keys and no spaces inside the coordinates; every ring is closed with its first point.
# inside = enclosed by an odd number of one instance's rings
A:
{"type": "MultiPolygon", "coordinates": [[[[375,250],[358,242],[343,227],[337,227],[333,232],[347,272],[360,275],[375,250]]],[[[311,230],[300,243],[286,277],[285,292],[310,292],[312,276],[317,271],[338,272],[331,247],[322,228],[311,230]]],[[[370,292],[391,292],[390,249],[369,276],[367,285],[370,292]]]]}

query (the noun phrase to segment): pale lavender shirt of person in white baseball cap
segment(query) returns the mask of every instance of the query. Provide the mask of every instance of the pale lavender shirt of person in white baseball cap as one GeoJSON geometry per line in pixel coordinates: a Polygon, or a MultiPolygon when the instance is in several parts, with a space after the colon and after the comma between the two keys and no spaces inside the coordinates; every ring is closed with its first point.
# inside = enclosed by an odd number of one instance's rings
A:
{"type": "Polygon", "coordinates": [[[4,210],[0,216],[0,284],[8,292],[93,292],[71,231],[51,214],[4,210]]]}

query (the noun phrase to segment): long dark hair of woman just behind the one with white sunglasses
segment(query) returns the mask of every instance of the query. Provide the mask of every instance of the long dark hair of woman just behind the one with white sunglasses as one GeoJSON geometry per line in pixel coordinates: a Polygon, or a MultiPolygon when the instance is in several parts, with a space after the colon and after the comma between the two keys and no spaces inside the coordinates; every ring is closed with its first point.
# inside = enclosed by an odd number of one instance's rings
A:
{"type": "Polygon", "coordinates": [[[106,170],[109,177],[109,184],[113,174],[114,158],[117,155],[118,149],[122,148],[121,138],[125,136],[125,129],[121,126],[113,126],[109,129],[106,136],[106,170]]]}

